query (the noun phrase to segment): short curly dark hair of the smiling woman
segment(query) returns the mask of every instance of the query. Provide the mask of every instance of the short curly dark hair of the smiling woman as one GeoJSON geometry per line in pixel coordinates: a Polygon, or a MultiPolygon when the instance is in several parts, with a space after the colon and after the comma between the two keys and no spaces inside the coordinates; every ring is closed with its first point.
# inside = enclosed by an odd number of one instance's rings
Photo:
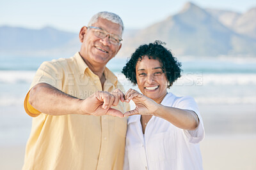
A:
{"type": "Polygon", "coordinates": [[[166,49],[163,45],[165,45],[165,43],[155,41],[148,45],[139,46],[139,48],[132,53],[131,59],[129,59],[122,70],[125,77],[132,83],[137,84],[136,64],[143,56],[147,56],[148,59],[159,60],[163,73],[168,80],[168,88],[171,87],[173,82],[181,76],[181,63],[178,62],[177,59],[173,57],[172,52],[166,49]]]}

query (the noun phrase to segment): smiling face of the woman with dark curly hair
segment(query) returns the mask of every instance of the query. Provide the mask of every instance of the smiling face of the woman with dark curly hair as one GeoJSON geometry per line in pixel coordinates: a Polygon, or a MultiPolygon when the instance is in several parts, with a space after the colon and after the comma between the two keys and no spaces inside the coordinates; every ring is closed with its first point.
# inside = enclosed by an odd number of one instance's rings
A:
{"type": "Polygon", "coordinates": [[[136,80],[140,91],[156,103],[167,94],[168,81],[158,60],[142,57],[136,64],[136,80]]]}

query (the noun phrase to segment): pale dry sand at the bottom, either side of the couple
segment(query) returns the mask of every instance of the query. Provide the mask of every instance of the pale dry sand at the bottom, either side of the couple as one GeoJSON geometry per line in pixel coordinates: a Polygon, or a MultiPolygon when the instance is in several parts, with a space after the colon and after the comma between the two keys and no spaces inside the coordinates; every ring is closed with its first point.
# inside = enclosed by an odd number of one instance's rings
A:
{"type": "MultiPolygon", "coordinates": [[[[255,170],[256,136],[207,136],[200,148],[205,170],[255,170]]],[[[1,146],[0,169],[21,169],[25,146],[1,146]]]]}

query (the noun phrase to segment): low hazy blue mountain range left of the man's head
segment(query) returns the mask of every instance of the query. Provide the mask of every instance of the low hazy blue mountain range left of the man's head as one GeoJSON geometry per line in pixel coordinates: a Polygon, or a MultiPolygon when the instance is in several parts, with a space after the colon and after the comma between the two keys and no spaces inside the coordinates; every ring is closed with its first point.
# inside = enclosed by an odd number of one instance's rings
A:
{"type": "MultiPolygon", "coordinates": [[[[21,27],[0,27],[0,53],[4,55],[60,55],[67,46],[77,46],[78,35],[59,31],[52,27],[43,29],[25,29],[21,27]]],[[[79,48],[78,48],[79,49],[79,48]]],[[[77,49],[77,50],[78,50],[77,49]]],[[[76,51],[77,51],[76,50],[76,51]]]]}

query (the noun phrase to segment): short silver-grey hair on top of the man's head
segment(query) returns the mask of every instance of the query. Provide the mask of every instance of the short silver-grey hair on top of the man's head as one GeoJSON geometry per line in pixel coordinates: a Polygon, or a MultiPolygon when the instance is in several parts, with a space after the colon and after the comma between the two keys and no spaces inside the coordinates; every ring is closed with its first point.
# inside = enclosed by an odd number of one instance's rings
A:
{"type": "Polygon", "coordinates": [[[95,15],[93,15],[93,17],[91,18],[91,20],[88,23],[88,27],[92,26],[92,24],[97,22],[99,18],[109,20],[115,24],[119,24],[122,27],[122,32],[124,31],[124,24],[123,24],[122,19],[115,13],[111,13],[108,11],[102,11],[102,12],[99,12],[99,13],[96,13],[95,15]]]}

